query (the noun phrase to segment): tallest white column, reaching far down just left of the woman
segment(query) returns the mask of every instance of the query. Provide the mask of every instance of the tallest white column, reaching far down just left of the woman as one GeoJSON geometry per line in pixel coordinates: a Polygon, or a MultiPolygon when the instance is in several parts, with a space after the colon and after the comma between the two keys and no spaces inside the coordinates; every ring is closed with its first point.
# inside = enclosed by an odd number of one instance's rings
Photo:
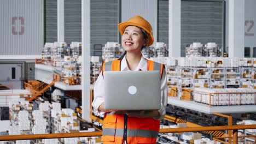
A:
{"type": "Polygon", "coordinates": [[[90,122],[90,0],[82,0],[82,118],[90,122]]]}

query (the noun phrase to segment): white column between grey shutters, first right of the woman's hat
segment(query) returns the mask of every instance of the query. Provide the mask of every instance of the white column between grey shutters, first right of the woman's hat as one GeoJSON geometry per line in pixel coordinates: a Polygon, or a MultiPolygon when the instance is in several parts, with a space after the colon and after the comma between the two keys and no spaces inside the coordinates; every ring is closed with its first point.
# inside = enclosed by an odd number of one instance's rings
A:
{"type": "Polygon", "coordinates": [[[169,57],[181,57],[181,0],[169,1],[169,57]]]}

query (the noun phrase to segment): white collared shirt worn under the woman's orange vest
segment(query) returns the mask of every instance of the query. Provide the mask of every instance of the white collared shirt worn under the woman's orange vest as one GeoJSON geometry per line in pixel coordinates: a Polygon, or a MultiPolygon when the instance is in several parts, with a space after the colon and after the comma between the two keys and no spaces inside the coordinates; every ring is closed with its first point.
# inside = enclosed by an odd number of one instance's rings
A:
{"type": "MultiPolygon", "coordinates": [[[[130,71],[127,62],[126,56],[121,61],[121,71],[130,71]]],[[[143,56],[141,57],[141,61],[139,62],[135,71],[138,70],[148,70],[148,61],[143,56]]],[[[94,85],[94,101],[92,101],[92,106],[94,107],[94,114],[97,116],[103,115],[104,112],[98,111],[98,107],[104,102],[105,96],[105,89],[104,89],[104,79],[102,73],[98,76],[97,81],[94,85]]],[[[166,71],[164,70],[162,73],[161,79],[161,109],[158,110],[161,117],[158,118],[159,120],[164,118],[166,113],[166,105],[167,105],[167,78],[166,78],[166,71]]]]}

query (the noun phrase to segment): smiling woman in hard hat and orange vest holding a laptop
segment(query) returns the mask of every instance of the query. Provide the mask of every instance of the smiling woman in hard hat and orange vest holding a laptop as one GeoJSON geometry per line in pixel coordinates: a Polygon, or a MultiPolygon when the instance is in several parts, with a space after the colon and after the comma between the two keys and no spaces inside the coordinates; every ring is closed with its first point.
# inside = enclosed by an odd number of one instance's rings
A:
{"type": "MultiPolygon", "coordinates": [[[[121,44],[125,54],[113,62],[109,62],[110,69],[119,71],[129,70],[154,70],[154,65],[142,56],[141,49],[154,42],[152,26],[141,16],[132,17],[118,25],[122,35],[121,44]]],[[[104,110],[104,79],[103,72],[107,65],[103,63],[102,73],[94,87],[95,115],[104,114],[103,143],[156,143],[160,127],[160,120],[164,117],[167,104],[167,82],[164,65],[161,64],[161,109],[154,111],[118,111],[107,112],[104,110]]]]}

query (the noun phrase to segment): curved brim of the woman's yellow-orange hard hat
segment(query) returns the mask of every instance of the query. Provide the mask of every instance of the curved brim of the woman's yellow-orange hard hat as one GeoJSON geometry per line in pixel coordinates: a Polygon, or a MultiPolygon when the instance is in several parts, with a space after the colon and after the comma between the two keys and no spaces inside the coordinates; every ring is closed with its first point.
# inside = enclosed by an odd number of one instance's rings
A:
{"type": "Polygon", "coordinates": [[[152,45],[154,43],[154,37],[151,34],[152,32],[148,32],[147,28],[145,28],[145,27],[143,27],[141,25],[138,25],[138,23],[134,23],[134,22],[121,22],[121,23],[119,23],[118,29],[119,29],[119,32],[120,32],[121,35],[124,34],[125,28],[127,26],[136,26],[136,27],[140,27],[140,28],[144,29],[144,31],[147,32],[147,36],[148,36],[148,44],[147,44],[147,46],[150,46],[150,45],[152,45]]]}

